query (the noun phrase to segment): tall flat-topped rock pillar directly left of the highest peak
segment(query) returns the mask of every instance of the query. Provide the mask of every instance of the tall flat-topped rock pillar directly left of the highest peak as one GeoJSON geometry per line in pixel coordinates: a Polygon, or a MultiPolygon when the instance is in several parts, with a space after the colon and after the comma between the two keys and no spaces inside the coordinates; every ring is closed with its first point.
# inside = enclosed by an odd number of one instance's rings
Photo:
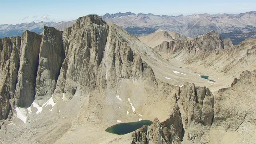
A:
{"type": "Polygon", "coordinates": [[[44,26],[36,77],[36,101],[42,105],[53,94],[64,60],[62,32],[44,26]]]}

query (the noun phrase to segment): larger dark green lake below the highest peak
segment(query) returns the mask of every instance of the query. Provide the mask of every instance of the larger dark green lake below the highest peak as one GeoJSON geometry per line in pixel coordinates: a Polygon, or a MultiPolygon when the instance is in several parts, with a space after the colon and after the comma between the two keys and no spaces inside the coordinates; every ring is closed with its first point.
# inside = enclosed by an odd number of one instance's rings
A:
{"type": "Polygon", "coordinates": [[[114,126],[107,128],[106,132],[123,135],[123,134],[128,134],[130,132],[133,132],[133,131],[137,130],[138,128],[141,128],[144,125],[150,126],[152,123],[153,122],[151,122],[150,120],[141,120],[138,122],[120,123],[120,124],[116,124],[114,126]]]}

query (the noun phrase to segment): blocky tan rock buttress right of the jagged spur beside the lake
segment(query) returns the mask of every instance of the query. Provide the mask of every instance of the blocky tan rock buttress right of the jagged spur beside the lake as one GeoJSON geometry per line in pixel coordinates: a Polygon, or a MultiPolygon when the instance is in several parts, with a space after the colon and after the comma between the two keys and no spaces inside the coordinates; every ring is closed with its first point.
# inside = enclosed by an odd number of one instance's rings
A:
{"type": "Polygon", "coordinates": [[[206,87],[185,84],[180,88],[178,103],[186,138],[192,142],[209,142],[209,130],[214,116],[214,97],[206,87]]]}

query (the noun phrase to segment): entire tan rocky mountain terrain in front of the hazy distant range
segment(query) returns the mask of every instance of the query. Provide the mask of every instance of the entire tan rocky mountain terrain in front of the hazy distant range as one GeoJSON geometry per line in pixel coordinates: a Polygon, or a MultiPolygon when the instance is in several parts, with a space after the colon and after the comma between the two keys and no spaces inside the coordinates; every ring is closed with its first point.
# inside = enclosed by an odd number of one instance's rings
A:
{"type": "Polygon", "coordinates": [[[94,14],[2,38],[0,142],[254,143],[255,50],[253,38],[233,45],[216,31],[138,38],[94,14]],[[153,123],[105,131],[140,120],[153,123]]]}

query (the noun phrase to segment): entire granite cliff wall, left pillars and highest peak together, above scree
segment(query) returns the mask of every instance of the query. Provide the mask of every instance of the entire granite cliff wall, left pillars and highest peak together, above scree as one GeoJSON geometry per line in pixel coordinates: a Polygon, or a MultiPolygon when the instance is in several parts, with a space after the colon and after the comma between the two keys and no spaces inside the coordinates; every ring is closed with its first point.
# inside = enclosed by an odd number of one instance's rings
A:
{"type": "Polygon", "coordinates": [[[52,96],[70,100],[76,90],[116,93],[122,79],[155,82],[117,28],[89,15],[64,32],[44,26],[42,35],[27,30],[21,38],[1,39],[1,119],[15,107],[41,106],[52,96]]]}

